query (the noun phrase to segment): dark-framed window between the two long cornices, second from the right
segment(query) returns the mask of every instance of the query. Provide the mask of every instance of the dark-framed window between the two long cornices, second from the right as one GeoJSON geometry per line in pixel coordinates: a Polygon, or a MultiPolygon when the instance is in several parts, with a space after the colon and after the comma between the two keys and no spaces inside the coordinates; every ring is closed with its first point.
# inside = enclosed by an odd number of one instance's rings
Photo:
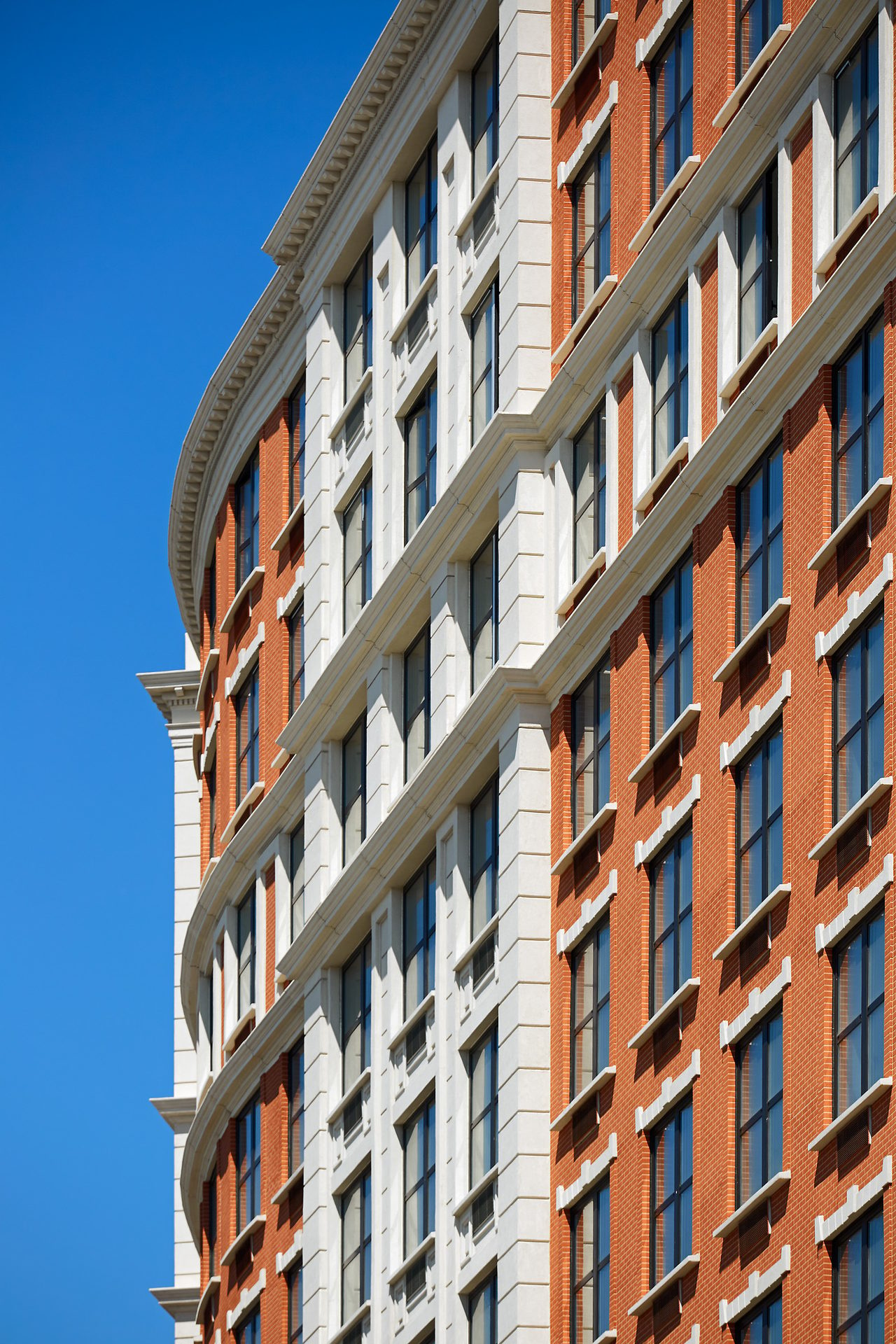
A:
{"type": "MultiPolygon", "coordinates": [[[[754,0],[760,4],[762,0],[754,0]]],[[[778,165],[763,175],[737,212],[739,358],[778,316],[778,165]]]]}

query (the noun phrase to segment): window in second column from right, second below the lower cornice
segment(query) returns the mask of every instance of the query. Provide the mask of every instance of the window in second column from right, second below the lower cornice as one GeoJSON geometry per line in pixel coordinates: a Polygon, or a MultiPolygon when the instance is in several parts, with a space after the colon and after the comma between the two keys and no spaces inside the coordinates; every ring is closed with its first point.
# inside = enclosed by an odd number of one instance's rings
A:
{"type": "Polygon", "coordinates": [[[737,923],[783,882],[780,724],[737,767],[737,923]]]}

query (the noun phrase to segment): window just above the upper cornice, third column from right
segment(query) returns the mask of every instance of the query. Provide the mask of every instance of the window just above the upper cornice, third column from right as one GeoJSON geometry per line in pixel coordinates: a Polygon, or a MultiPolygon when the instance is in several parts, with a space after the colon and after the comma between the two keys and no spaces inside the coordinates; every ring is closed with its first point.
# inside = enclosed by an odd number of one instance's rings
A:
{"type": "Polygon", "coordinates": [[[650,63],[650,204],[693,153],[693,19],[650,63]]]}

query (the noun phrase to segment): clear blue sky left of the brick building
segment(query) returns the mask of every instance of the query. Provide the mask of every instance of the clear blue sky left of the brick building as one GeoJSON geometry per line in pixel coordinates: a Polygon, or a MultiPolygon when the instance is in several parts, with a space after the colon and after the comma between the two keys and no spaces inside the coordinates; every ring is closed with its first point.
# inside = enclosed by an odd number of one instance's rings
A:
{"type": "Polygon", "coordinates": [[[173,1333],[146,1099],[172,1083],[172,767],[134,673],[183,659],[180,444],[391,8],[3,9],[0,1241],[4,1335],[30,1344],[173,1333]]]}

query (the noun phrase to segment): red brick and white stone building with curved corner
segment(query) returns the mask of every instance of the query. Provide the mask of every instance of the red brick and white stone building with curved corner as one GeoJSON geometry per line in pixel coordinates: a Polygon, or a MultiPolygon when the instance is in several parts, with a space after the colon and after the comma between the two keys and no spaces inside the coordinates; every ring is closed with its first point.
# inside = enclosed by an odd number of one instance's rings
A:
{"type": "Polygon", "coordinates": [[[175,477],[176,1339],[893,1337],[895,98],[395,9],[175,477]]]}

